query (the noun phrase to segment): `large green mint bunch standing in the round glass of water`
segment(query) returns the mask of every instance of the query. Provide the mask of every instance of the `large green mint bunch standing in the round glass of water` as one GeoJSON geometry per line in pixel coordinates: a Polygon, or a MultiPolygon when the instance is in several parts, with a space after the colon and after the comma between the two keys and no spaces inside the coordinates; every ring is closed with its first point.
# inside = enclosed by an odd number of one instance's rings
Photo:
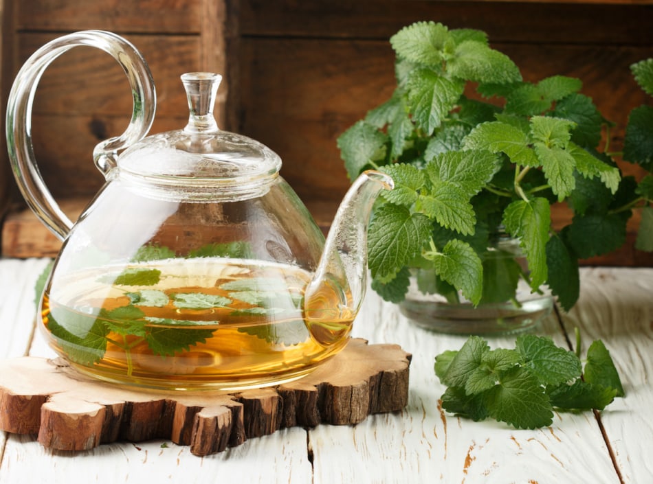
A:
{"type": "MultiPolygon", "coordinates": [[[[634,207],[643,207],[637,246],[653,250],[653,176],[622,177],[603,141],[611,124],[579,80],[525,82],[478,30],[420,22],[390,43],[392,97],[337,140],[351,179],[375,168],[395,181],[368,235],[372,287],[384,299],[404,299],[412,269],[422,292],[450,301],[458,291],[474,305],[509,301],[524,278],[533,291],[548,285],[568,310],[578,260],[618,249],[634,207]],[[474,87],[480,100],[465,95],[474,87]],[[560,231],[554,203],[573,210],[560,231]],[[483,256],[500,233],[519,240],[527,272],[483,256]]],[[[633,69],[653,93],[652,61],[633,69]]],[[[653,169],[653,108],[633,112],[623,158],[653,169]]]]}

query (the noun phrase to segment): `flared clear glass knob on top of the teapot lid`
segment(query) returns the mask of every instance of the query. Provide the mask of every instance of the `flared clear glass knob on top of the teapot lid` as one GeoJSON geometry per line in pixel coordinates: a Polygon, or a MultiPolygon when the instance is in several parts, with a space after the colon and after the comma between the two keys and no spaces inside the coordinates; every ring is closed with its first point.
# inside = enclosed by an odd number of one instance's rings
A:
{"type": "Polygon", "coordinates": [[[213,116],[213,106],[221,80],[222,76],[212,72],[190,72],[181,75],[190,109],[185,132],[210,133],[219,130],[213,116]]]}

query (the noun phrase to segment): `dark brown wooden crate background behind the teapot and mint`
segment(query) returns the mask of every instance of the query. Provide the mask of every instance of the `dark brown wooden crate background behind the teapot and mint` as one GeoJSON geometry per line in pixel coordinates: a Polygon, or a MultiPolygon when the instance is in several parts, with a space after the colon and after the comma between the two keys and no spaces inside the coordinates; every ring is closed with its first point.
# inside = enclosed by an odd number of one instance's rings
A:
{"type": "MultiPolygon", "coordinates": [[[[123,34],[142,51],[157,84],[153,132],[186,122],[181,73],[225,74],[216,109],[220,126],[278,152],[283,176],[327,229],[349,185],[335,140],[392,93],[388,38],[424,20],[485,30],[527,80],[581,78],[583,92],[621,126],[617,145],[630,109],[652,103],[628,68],[653,56],[652,0],[4,0],[3,108],[16,71],[50,38],[89,28],[123,34]]],[[[102,185],[93,146],[129,122],[129,87],[113,62],[100,51],[74,49],[46,71],[37,92],[36,157],[73,215],[102,185]]],[[[0,203],[9,211],[3,254],[49,255],[57,242],[21,212],[4,148],[1,154],[0,203]]],[[[641,176],[632,165],[624,169],[641,176]]],[[[566,216],[560,211],[555,223],[566,216]]],[[[653,265],[653,257],[630,245],[588,263],[653,265]]]]}

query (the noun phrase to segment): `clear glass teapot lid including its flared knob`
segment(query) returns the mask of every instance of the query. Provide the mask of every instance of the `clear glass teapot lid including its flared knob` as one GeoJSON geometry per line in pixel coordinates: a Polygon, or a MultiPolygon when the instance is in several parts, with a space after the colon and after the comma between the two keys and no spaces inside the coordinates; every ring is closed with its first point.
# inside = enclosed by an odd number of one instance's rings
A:
{"type": "Polygon", "coordinates": [[[222,76],[181,76],[190,116],[183,130],[148,136],[118,158],[121,177],[199,198],[242,198],[267,191],[281,168],[274,151],[249,137],[220,130],[213,116],[222,76]]]}

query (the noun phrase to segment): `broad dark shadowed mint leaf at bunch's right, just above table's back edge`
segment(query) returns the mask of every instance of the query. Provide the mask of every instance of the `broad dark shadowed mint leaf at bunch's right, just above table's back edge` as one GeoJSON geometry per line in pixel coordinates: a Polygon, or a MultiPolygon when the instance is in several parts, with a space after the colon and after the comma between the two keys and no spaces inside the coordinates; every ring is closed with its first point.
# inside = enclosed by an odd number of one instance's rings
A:
{"type": "Polygon", "coordinates": [[[612,252],[626,242],[623,214],[589,214],[574,216],[566,238],[579,259],[612,252]]]}

